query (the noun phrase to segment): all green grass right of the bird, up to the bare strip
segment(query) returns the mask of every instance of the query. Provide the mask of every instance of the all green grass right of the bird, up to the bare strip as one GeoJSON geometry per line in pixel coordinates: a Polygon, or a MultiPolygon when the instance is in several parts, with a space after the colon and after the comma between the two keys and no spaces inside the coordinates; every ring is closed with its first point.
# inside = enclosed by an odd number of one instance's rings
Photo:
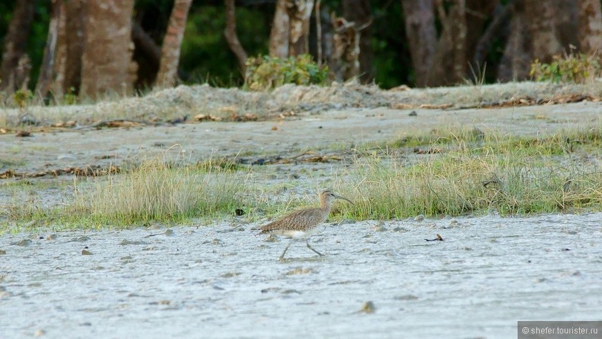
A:
{"type": "Polygon", "coordinates": [[[600,128],[541,137],[474,135],[410,139],[422,146],[444,146],[414,163],[402,162],[394,152],[358,158],[355,169],[337,184],[338,191],[355,202],[344,206],[343,212],[363,220],[491,210],[502,215],[551,213],[602,206],[602,171],[572,157],[585,145],[592,147],[589,151],[598,150],[590,153],[600,157],[600,128]]]}

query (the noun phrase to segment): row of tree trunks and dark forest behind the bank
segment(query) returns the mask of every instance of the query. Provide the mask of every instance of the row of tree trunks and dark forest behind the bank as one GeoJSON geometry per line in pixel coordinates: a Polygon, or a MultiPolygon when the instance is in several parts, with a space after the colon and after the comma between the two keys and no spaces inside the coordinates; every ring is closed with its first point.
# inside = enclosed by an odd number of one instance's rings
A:
{"type": "Polygon", "coordinates": [[[49,102],[241,86],[248,57],[306,53],[329,66],[330,80],[382,88],[520,81],[536,60],[584,53],[599,62],[601,2],[2,1],[0,91],[49,102]]]}

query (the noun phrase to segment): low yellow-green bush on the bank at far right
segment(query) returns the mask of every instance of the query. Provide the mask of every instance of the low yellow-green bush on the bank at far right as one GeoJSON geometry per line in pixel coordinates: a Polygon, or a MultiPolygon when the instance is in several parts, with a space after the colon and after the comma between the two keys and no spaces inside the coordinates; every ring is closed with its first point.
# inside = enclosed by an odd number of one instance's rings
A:
{"type": "Polygon", "coordinates": [[[529,75],[536,81],[585,84],[587,81],[601,76],[602,68],[596,55],[569,53],[555,55],[554,61],[550,64],[542,64],[539,59],[535,59],[531,64],[529,75]]]}

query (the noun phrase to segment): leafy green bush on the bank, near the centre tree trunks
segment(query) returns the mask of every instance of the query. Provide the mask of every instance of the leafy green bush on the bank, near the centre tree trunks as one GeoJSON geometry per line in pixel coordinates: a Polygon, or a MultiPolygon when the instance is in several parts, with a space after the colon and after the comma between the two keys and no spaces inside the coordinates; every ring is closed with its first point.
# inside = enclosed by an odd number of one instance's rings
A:
{"type": "Polygon", "coordinates": [[[245,86],[251,90],[266,90],[283,84],[325,85],[328,67],[318,66],[311,55],[278,58],[250,57],[246,62],[245,86]]]}

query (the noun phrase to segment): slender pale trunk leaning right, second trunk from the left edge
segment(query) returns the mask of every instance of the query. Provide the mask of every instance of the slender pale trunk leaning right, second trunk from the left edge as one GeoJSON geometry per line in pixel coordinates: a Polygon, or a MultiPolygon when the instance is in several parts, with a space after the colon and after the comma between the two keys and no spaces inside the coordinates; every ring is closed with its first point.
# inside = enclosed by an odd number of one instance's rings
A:
{"type": "Polygon", "coordinates": [[[57,46],[57,37],[59,31],[59,21],[62,14],[62,0],[52,0],[51,20],[48,23],[48,36],[46,37],[46,47],[44,47],[44,57],[42,57],[42,66],[40,66],[37,84],[35,85],[35,94],[40,98],[46,97],[50,90],[53,78],[53,68],[55,64],[55,52],[57,46]]]}

